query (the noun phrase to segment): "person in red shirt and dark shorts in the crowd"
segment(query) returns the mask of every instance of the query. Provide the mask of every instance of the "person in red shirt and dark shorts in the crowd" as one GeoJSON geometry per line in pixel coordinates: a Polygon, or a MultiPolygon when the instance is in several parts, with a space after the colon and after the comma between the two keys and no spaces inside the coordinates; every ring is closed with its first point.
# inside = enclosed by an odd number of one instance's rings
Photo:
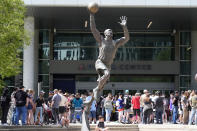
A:
{"type": "Polygon", "coordinates": [[[133,121],[134,123],[139,123],[140,119],[140,94],[135,93],[135,96],[132,97],[132,105],[133,105],[133,121]]]}

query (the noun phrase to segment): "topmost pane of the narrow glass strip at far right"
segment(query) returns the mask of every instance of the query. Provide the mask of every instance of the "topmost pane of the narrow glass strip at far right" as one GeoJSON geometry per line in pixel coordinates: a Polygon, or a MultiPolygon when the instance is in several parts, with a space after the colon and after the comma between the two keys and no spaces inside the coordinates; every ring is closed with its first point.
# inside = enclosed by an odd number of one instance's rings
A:
{"type": "Polygon", "coordinates": [[[191,45],[191,32],[180,33],[180,45],[191,45]]]}

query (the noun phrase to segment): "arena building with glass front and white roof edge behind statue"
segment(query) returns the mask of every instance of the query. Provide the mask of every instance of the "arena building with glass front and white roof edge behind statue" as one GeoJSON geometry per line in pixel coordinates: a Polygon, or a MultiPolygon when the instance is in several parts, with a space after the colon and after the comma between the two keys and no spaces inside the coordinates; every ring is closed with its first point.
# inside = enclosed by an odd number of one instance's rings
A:
{"type": "MultiPolygon", "coordinates": [[[[93,0],[24,0],[31,44],[23,53],[23,84],[86,92],[97,85],[98,46],[90,32],[93,0]]],[[[128,17],[130,40],[118,49],[104,94],[128,89],[169,93],[194,89],[197,82],[196,0],[95,0],[97,29],[123,36],[120,16],[128,17]]],[[[16,78],[17,79],[17,78],[16,78]]]]}

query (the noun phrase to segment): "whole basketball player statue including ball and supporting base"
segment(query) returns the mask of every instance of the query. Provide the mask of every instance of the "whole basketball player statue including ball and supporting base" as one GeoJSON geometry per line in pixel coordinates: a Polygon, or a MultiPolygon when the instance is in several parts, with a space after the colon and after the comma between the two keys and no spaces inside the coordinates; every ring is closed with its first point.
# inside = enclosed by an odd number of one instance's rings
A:
{"type": "Polygon", "coordinates": [[[120,17],[120,22],[118,22],[123,28],[124,37],[113,40],[113,32],[111,29],[106,29],[104,31],[105,37],[96,29],[94,14],[98,11],[98,5],[96,3],[91,3],[88,9],[90,11],[90,29],[99,46],[99,56],[95,63],[95,68],[98,73],[98,86],[93,90],[92,99],[84,102],[85,108],[82,114],[81,131],[90,130],[88,116],[91,104],[94,100],[98,99],[98,94],[103,90],[105,83],[110,77],[111,64],[113,63],[118,47],[129,41],[126,16],[120,17]]]}

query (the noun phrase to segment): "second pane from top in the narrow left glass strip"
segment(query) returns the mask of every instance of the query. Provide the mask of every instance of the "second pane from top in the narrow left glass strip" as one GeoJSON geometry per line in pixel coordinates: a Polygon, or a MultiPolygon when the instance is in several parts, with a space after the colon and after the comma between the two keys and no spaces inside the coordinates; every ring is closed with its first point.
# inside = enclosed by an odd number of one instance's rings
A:
{"type": "Polygon", "coordinates": [[[42,44],[39,48],[39,58],[40,59],[49,59],[49,44],[42,44]]]}

